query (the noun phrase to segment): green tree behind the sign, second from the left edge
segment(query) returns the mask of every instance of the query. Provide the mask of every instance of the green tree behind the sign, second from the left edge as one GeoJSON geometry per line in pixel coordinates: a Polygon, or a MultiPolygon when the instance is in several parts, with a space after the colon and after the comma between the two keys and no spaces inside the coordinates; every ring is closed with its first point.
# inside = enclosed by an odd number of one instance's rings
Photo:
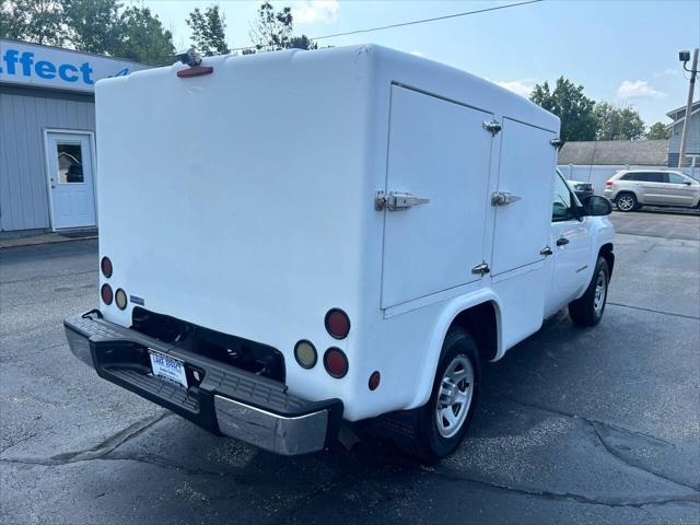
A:
{"type": "Polygon", "coordinates": [[[116,0],[62,0],[69,40],[81,51],[113,54],[121,40],[122,26],[116,0]]]}

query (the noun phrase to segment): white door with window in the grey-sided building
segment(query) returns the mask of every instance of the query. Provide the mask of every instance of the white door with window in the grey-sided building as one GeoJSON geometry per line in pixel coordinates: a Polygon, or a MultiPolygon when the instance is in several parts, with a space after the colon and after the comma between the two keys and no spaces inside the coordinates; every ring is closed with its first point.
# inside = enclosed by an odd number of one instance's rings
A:
{"type": "Polygon", "coordinates": [[[94,226],[94,163],[89,133],[46,133],[51,225],[94,226]]]}

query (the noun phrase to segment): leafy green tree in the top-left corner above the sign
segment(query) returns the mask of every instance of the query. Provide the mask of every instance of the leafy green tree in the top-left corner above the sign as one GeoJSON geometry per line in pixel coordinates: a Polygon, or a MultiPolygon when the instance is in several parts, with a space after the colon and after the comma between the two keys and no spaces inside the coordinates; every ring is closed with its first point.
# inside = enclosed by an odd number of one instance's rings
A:
{"type": "Polygon", "coordinates": [[[60,46],[66,40],[63,10],[57,0],[2,0],[0,37],[60,46]]]}

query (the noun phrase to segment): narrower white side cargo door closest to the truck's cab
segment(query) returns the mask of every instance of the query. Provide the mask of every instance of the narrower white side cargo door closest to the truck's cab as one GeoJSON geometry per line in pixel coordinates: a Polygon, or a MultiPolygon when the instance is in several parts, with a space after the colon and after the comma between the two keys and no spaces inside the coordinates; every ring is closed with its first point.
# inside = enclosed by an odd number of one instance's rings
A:
{"type": "Polygon", "coordinates": [[[553,132],[504,118],[501,133],[498,192],[511,201],[495,206],[494,277],[544,259],[557,170],[553,132]]]}

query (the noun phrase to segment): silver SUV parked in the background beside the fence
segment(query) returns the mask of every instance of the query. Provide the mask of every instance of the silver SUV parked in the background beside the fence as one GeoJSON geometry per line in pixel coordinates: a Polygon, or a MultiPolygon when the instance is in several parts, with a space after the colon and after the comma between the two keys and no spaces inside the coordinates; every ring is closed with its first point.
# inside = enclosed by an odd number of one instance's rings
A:
{"type": "Polygon", "coordinates": [[[620,211],[649,206],[699,208],[700,183],[680,172],[625,170],[605,183],[604,195],[620,211]]]}

